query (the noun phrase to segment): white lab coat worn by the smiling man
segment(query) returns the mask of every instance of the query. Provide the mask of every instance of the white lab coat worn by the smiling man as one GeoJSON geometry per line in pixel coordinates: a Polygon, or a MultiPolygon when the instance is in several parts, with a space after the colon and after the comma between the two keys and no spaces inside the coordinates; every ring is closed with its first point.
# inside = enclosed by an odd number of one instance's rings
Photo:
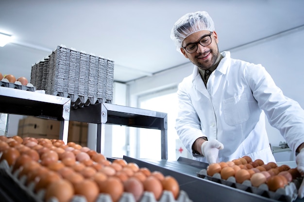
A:
{"type": "MultiPolygon", "coordinates": [[[[295,152],[304,142],[304,110],[283,95],[263,66],[231,59],[230,52],[221,54],[224,58],[207,87],[197,66],[179,84],[175,128],[186,149],[193,154],[193,142],[205,136],[223,143],[220,161],[249,155],[253,160],[275,162],[265,128],[266,114],[295,152]]],[[[193,158],[207,162],[201,155],[193,158]]]]}

